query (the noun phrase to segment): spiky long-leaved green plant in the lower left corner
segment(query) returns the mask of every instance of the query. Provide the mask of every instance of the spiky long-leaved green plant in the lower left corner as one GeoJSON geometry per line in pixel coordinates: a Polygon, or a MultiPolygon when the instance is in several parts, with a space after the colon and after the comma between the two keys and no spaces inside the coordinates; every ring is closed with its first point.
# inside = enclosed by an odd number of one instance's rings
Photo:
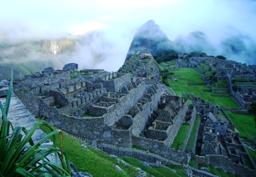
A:
{"type": "Polygon", "coordinates": [[[55,134],[60,130],[53,130],[43,121],[35,124],[30,130],[24,127],[15,127],[7,120],[11,92],[13,90],[13,73],[11,73],[10,86],[5,106],[0,102],[2,111],[2,125],[0,130],[0,176],[71,176],[68,160],[62,150],[56,148],[55,134]],[[37,143],[31,136],[41,124],[51,129],[51,133],[37,143]],[[12,132],[10,133],[10,129],[12,132]],[[52,138],[53,147],[45,147],[43,142],[52,138]],[[62,167],[49,160],[49,155],[61,159],[62,167]],[[65,158],[62,158],[64,154],[65,158]]]}

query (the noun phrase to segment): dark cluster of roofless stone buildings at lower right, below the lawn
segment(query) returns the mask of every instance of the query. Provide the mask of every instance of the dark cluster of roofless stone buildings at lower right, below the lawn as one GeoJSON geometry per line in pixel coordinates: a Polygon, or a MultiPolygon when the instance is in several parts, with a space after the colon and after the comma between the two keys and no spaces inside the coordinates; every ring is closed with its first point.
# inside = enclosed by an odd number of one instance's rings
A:
{"type": "MultiPolygon", "coordinates": [[[[205,102],[192,94],[189,96],[201,120],[196,140],[196,149],[201,152],[200,155],[227,157],[243,166],[246,166],[245,158],[247,158],[255,170],[256,166],[229,118],[226,115],[224,118],[220,117],[217,110],[219,108],[212,106],[211,102],[205,102]]],[[[224,112],[223,109],[220,111],[224,112]]]]}

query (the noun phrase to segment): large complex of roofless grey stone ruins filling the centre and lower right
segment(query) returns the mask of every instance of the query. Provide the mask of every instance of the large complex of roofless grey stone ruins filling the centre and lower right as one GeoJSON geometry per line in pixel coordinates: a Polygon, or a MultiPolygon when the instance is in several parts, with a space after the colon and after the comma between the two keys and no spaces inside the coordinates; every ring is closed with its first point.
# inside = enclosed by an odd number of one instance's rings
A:
{"type": "Polygon", "coordinates": [[[191,94],[193,105],[188,105],[187,98],[163,95],[160,84],[146,84],[130,73],[78,72],[73,68],[31,74],[14,79],[14,93],[36,117],[95,141],[109,153],[135,155],[131,147],[140,146],[154,153],[148,160],[154,159],[152,162],[158,165],[186,166],[195,150],[200,149],[208,164],[218,167],[216,161],[226,157],[231,162],[223,161],[233,169],[245,169],[244,158],[251,160],[234,124],[219,115],[218,107],[191,94]],[[75,79],[71,75],[76,75],[75,79]],[[196,115],[201,122],[192,154],[185,153],[184,148],[170,148],[182,123],[190,126],[184,147],[189,143],[196,115]]]}

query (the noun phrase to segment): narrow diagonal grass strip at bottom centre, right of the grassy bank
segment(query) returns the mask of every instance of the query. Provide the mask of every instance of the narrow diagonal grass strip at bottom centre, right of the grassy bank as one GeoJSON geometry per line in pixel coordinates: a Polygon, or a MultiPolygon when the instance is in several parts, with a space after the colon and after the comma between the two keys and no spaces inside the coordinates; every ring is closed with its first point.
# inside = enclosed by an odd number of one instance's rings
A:
{"type": "MultiPolygon", "coordinates": [[[[158,172],[156,169],[154,169],[153,167],[148,167],[148,166],[144,166],[143,162],[132,158],[132,157],[121,157],[122,160],[126,161],[127,163],[130,163],[132,166],[134,167],[139,167],[141,168],[143,171],[155,176],[155,177],[165,177],[164,174],[161,174],[160,172],[158,172]]],[[[108,175],[111,176],[111,175],[108,175]]]]}

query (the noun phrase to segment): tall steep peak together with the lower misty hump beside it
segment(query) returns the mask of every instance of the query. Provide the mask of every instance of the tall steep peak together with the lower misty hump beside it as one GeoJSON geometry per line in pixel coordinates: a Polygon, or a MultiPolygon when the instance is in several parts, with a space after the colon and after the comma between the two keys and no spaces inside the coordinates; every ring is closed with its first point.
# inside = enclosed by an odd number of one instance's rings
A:
{"type": "Polygon", "coordinates": [[[179,35],[175,41],[170,41],[153,20],[144,23],[135,33],[125,60],[135,54],[136,50],[145,48],[154,57],[173,50],[178,53],[190,53],[196,50],[211,55],[216,54],[216,48],[204,32],[194,31],[189,33],[188,36],[179,35]]]}

